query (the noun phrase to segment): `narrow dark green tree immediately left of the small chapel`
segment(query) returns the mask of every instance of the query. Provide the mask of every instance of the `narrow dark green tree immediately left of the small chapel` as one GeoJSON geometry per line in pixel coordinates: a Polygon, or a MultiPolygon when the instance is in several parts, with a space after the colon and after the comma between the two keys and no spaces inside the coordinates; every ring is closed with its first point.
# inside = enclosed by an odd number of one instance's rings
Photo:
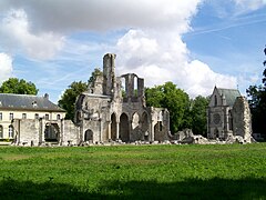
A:
{"type": "Polygon", "coordinates": [[[206,109],[208,106],[209,99],[198,96],[193,100],[192,106],[192,131],[195,134],[202,134],[206,137],[207,133],[207,118],[206,109]]]}

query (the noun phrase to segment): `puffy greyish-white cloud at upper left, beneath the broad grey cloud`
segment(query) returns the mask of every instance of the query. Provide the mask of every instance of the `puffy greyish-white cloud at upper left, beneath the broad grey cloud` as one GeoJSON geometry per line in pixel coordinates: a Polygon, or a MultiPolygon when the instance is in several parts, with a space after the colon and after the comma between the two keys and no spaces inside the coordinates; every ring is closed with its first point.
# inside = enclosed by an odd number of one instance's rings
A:
{"type": "Polygon", "coordinates": [[[50,59],[62,46],[64,38],[53,32],[33,34],[24,10],[10,10],[0,23],[2,44],[11,51],[22,50],[34,59],[50,59]]]}

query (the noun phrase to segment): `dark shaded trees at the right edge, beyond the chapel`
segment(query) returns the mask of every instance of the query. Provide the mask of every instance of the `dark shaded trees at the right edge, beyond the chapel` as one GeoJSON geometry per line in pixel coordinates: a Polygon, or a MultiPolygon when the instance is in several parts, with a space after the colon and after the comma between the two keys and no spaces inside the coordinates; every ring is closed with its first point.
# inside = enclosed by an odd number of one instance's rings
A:
{"type": "MultiPolygon", "coordinates": [[[[266,48],[264,49],[266,56],[266,48]]],[[[263,62],[266,67],[266,60],[263,62]]],[[[260,86],[249,86],[246,90],[249,98],[249,107],[253,119],[253,132],[264,133],[266,130],[266,68],[263,71],[263,80],[260,86]]]]}

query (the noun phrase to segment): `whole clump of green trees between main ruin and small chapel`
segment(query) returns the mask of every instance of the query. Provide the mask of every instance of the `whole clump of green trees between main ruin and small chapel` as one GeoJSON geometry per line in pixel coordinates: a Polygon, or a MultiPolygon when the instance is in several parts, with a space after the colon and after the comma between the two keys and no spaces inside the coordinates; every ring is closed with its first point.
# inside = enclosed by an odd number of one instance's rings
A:
{"type": "Polygon", "coordinates": [[[147,107],[166,108],[170,111],[170,130],[176,133],[190,128],[196,134],[206,136],[206,109],[208,99],[196,97],[191,100],[188,94],[173,82],[145,89],[147,107]]]}

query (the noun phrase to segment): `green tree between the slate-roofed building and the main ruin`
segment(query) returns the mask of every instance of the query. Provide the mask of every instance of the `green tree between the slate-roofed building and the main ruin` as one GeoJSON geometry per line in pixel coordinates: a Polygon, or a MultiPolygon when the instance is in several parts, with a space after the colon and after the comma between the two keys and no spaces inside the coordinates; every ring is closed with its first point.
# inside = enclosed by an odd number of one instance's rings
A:
{"type": "Polygon", "coordinates": [[[65,119],[74,121],[74,103],[76,97],[88,89],[86,82],[72,82],[59,100],[59,107],[66,111],[65,119]]]}

